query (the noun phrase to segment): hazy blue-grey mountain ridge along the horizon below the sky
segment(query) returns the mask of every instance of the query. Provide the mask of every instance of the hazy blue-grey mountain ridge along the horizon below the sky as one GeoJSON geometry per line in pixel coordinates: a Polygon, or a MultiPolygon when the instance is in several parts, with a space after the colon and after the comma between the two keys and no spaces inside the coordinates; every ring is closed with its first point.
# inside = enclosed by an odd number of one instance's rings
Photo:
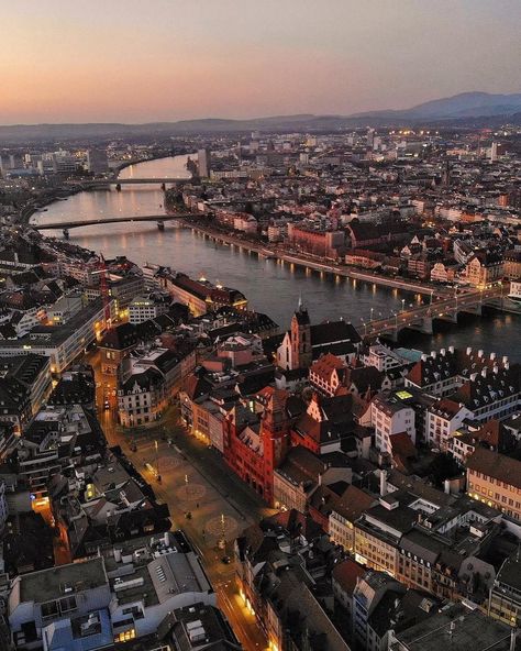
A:
{"type": "Polygon", "coordinates": [[[88,124],[15,124],[0,125],[2,142],[26,142],[60,139],[103,139],[144,135],[182,135],[192,133],[226,133],[262,131],[326,131],[355,126],[398,126],[425,124],[441,126],[496,126],[502,122],[521,124],[521,92],[492,95],[462,92],[453,97],[428,101],[411,109],[369,111],[351,115],[275,115],[250,120],[180,120],[146,124],[88,123],[88,124]]]}

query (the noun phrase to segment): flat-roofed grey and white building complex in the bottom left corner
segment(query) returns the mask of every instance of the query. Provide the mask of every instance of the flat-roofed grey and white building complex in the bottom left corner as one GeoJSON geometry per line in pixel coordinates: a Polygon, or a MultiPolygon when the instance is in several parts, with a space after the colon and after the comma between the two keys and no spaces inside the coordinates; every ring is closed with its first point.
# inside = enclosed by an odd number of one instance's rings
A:
{"type": "Polygon", "coordinates": [[[215,602],[184,534],[167,532],[18,576],[7,616],[16,649],[95,650],[156,635],[174,610],[215,602]]]}

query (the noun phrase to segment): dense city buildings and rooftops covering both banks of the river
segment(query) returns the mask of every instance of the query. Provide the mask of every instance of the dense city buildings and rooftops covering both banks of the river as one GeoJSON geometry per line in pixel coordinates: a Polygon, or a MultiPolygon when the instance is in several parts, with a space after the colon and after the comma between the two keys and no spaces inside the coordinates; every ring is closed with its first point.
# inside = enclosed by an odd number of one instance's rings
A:
{"type": "MultiPolygon", "coordinates": [[[[455,300],[500,283],[499,307],[516,311],[518,135],[195,137],[193,177],[165,201],[260,255],[442,297],[455,286],[455,300]]],[[[7,648],[240,649],[217,599],[232,574],[214,572],[233,563],[229,613],[245,609],[274,651],[512,651],[518,351],[424,353],[343,319],[314,322],[302,299],[280,331],[241,288],[44,238],[16,223],[24,211],[111,179],[109,163],[165,151],[44,150],[0,158],[7,648]],[[204,445],[187,459],[176,437],[204,445]],[[173,515],[201,487],[185,474],[174,493],[159,468],[168,455],[180,476],[207,448],[219,475],[208,479],[245,521],[232,534],[224,514],[204,522],[204,543],[219,533],[201,551],[173,515]],[[229,486],[275,515],[248,523],[229,486]]]]}

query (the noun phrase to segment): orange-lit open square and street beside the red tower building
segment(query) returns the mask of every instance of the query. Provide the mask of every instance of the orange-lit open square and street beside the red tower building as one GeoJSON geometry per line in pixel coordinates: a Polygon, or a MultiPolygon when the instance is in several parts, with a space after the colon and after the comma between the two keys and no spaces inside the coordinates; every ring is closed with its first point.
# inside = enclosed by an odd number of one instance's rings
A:
{"type": "Polygon", "coordinates": [[[176,408],[170,408],[157,424],[123,431],[117,424],[117,398],[112,395],[115,378],[101,375],[97,357],[91,354],[89,363],[96,373],[98,416],[109,445],[121,445],[158,499],[168,504],[173,529],[182,529],[203,560],[219,606],[244,648],[266,649],[266,637],[236,588],[233,562],[225,564],[222,559],[233,558],[233,541],[245,527],[274,511],[226,468],[217,450],[187,433],[179,424],[176,408]],[[106,396],[110,409],[104,408],[106,396]],[[173,439],[173,444],[168,444],[167,438],[173,439]],[[135,452],[131,450],[133,444],[135,452]],[[156,478],[157,465],[160,484],[156,478]],[[186,517],[188,512],[190,518],[186,517]],[[224,550],[218,548],[223,528],[224,550]]]}

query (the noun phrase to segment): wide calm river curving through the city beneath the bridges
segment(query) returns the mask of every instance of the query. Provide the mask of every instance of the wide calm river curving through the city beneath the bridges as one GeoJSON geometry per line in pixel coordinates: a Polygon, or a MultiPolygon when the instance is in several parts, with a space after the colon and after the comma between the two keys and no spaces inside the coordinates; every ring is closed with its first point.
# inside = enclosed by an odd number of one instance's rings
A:
{"type": "MultiPolygon", "coordinates": [[[[148,161],[126,167],[121,178],[176,177],[188,178],[187,156],[148,161]]],[[[82,221],[99,217],[159,214],[164,212],[164,196],[156,186],[122,186],[80,192],[65,201],[48,206],[46,212],[34,216],[38,223],[82,221]]],[[[43,231],[55,236],[56,231],[43,231]]],[[[344,318],[363,331],[362,319],[387,316],[400,310],[402,301],[411,305],[421,297],[393,289],[376,287],[347,278],[321,276],[273,260],[259,260],[230,246],[214,244],[174,222],[166,222],[160,232],[156,224],[106,224],[70,230],[70,241],[101,251],[106,257],[126,255],[137,264],[145,262],[168,265],[174,269],[240,289],[251,306],[269,315],[281,327],[287,327],[299,297],[307,305],[312,321],[344,318]]],[[[485,318],[462,315],[458,325],[435,323],[433,336],[412,331],[400,334],[400,343],[421,350],[434,350],[451,344],[472,345],[495,351],[521,361],[521,318],[488,311],[485,318]]]]}

